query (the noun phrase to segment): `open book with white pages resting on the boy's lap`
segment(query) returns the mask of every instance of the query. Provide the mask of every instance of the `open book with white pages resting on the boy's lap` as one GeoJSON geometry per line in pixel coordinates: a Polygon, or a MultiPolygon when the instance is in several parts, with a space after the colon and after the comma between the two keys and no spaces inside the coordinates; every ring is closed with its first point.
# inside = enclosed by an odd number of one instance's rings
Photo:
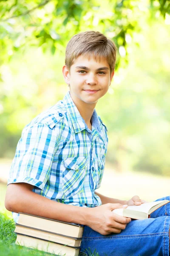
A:
{"type": "Polygon", "coordinates": [[[145,218],[150,218],[150,214],[152,212],[154,212],[156,209],[169,202],[169,200],[155,201],[137,206],[128,206],[127,208],[114,209],[113,212],[127,218],[143,220],[145,218]]]}

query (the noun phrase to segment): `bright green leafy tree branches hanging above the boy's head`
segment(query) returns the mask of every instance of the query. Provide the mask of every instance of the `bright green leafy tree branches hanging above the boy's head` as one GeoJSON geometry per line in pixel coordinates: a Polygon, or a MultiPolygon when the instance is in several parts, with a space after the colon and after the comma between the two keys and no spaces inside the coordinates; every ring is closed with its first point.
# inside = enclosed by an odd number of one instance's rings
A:
{"type": "Polygon", "coordinates": [[[2,0],[0,64],[26,46],[63,52],[68,38],[96,28],[125,51],[126,36],[141,28],[143,17],[156,12],[170,14],[170,0],[2,0]]]}

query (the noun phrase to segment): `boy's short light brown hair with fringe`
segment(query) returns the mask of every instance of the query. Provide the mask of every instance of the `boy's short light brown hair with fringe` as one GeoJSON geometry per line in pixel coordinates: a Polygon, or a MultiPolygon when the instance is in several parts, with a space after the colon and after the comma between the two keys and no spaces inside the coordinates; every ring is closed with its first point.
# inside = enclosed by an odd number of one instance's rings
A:
{"type": "Polygon", "coordinates": [[[65,51],[65,65],[69,70],[80,55],[94,55],[96,59],[105,58],[111,72],[115,69],[116,45],[100,32],[81,32],[70,39],[65,51]]]}

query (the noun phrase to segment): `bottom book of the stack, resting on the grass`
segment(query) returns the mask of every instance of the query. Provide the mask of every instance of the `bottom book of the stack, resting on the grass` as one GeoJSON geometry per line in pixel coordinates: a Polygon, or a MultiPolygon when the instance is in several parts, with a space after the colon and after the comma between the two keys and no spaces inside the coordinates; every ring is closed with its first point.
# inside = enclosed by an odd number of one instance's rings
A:
{"type": "Polygon", "coordinates": [[[20,234],[17,234],[17,240],[15,244],[26,246],[32,249],[42,250],[47,253],[54,253],[57,255],[65,256],[78,256],[80,250],[79,247],[65,246],[63,244],[49,242],[20,234]]]}

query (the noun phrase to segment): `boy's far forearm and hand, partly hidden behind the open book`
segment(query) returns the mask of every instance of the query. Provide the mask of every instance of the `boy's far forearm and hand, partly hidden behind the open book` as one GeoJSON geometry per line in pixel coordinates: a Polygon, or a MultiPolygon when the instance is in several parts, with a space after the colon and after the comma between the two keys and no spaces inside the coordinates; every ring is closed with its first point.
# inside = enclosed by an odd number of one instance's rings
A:
{"type": "Polygon", "coordinates": [[[126,200],[119,200],[119,199],[115,199],[115,198],[109,198],[105,195],[99,194],[96,191],[95,191],[95,194],[99,196],[99,198],[102,201],[102,204],[108,204],[108,203],[127,204],[128,206],[130,206],[130,205],[140,205],[140,204],[146,203],[146,201],[141,200],[138,195],[134,195],[132,198],[130,198],[130,200],[126,201],[126,200]]]}

